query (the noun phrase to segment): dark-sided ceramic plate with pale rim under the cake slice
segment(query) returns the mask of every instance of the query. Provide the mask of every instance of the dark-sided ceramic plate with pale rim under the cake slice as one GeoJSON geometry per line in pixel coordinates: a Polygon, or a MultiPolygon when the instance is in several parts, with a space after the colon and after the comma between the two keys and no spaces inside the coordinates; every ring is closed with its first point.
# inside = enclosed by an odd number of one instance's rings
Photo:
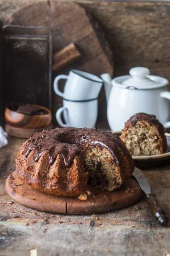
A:
{"type": "MultiPolygon", "coordinates": [[[[113,132],[115,135],[120,136],[121,131],[113,132]]],[[[148,155],[148,156],[133,156],[135,166],[138,168],[152,168],[165,164],[170,164],[170,133],[165,133],[168,149],[161,155],[148,155]]]]}

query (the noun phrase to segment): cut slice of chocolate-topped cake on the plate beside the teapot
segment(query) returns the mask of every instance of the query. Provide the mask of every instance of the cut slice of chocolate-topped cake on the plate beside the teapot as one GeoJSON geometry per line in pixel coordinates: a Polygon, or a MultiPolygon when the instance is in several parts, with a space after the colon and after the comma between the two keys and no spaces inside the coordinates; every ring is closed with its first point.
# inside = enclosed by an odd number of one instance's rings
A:
{"type": "Polygon", "coordinates": [[[133,156],[158,155],[167,149],[164,127],[154,115],[137,113],[125,123],[121,140],[133,156]]]}

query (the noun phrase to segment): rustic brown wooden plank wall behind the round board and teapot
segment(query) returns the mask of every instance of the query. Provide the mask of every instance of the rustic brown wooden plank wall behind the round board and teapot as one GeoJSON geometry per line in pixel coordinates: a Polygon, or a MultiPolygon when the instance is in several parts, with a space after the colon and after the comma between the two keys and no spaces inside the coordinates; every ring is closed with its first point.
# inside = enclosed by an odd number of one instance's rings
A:
{"type": "MultiPolygon", "coordinates": [[[[14,11],[33,2],[37,1],[0,1],[0,25],[14,11]]],[[[128,74],[134,66],[145,66],[151,74],[170,80],[169,1],[73,2],[84,7],[105,31],[114,56],[114,77],[128,74]]],[[[107,123],[105,98],[98,112],[98,121],[107,123]]]]}

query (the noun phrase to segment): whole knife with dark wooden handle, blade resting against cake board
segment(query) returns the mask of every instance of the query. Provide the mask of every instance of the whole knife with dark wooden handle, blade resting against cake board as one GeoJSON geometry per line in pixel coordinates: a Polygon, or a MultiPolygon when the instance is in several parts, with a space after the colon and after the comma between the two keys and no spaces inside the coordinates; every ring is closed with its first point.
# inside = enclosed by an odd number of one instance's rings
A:
{"type": "Polygon", "coordinates": [[[155,195],[151,193],[151,188],[149,186],[149,183],[147,182],[147,179],[144,177],[144,174],[140,169],[135,167],[132,175],[137,180],[140,188],[146,194],[147,201],[153,210],[153,216],[161,226],[166,226],[169,219],[166,216],[165,211],[158,205],[155,195]]]}

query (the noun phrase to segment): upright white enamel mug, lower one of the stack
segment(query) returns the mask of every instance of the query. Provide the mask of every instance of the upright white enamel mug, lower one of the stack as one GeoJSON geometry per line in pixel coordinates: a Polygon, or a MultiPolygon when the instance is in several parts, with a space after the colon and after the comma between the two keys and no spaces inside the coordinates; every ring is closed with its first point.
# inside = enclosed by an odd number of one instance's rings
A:
{"type": "Polygon", "coordinates": [[[56,120],[61,127],[93,128],[98,116],[98,100],[67,101],[56,112],[56,120]],[[63,123],[61,115],[64,115],[63,123]]]}

